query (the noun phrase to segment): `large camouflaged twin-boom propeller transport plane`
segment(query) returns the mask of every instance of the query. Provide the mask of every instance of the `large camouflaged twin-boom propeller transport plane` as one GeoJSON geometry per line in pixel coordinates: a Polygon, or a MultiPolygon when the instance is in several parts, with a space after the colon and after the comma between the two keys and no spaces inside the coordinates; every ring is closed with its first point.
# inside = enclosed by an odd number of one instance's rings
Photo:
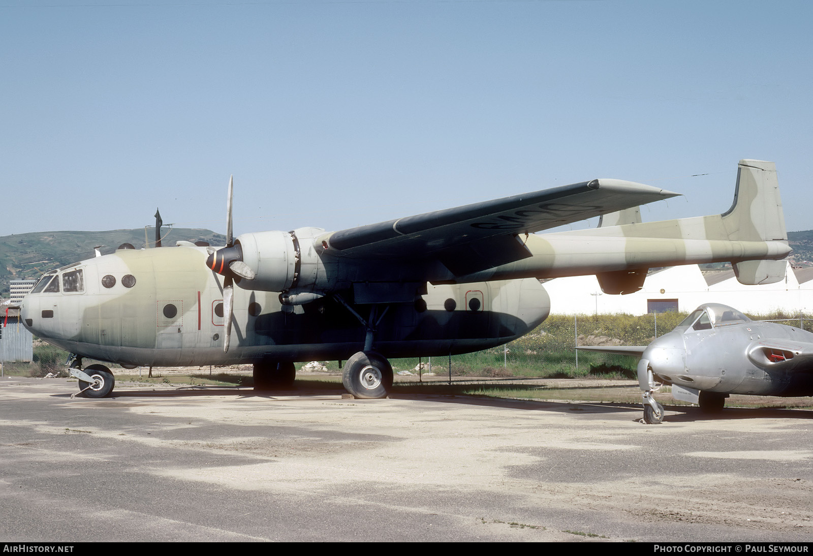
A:
{"type": "Polygon", "coordinates": [[[338,232],[233,238],[230,182],[224,247],[119,249],[51,271],[21,316],[73,354],[70,372],[89,397],[110,394],[114,378],[83,358],[129,368],[253,363],[261,388],[290,385],[295,362],[344,359],[350,393],[384,397],[388,358],[484,350],[537,327],[550,312],[541,278],[595,274],[619,294],[640,289],[649,267],[730,261],[743,284],[784,276],[776,168],[759,160],[740,161],[721,215],[641,223],[627,211],[598,228],[534,234],[676,194],[590,180],[338,232]]]}

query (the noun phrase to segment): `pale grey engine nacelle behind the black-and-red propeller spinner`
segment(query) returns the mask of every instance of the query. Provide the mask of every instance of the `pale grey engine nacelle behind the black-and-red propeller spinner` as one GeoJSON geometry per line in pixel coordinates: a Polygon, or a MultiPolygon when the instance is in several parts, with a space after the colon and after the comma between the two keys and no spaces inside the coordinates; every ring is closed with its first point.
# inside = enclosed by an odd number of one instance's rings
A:
{"type": "Polygon", "coordinates": [[[313,238],[324,232],[321,228],[298,228],[293,232],[256,232],[237,237],[242,261],[256,278],[236,279],[242,289],[264,292],[312,292],[320,277],[324,280],[324,268],[313,238]],[[321,269],[321,271],[320,271],[321,269]]]}

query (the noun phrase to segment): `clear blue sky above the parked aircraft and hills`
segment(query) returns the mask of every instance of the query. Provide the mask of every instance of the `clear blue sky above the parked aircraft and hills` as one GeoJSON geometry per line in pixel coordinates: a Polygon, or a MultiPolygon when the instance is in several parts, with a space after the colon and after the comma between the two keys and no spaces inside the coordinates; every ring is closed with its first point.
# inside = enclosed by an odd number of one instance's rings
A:
{"type": "MultiPolygon", "coordinates": [[[[813,2],[0,0],[0,235],[341,229],[613,177],[813,228],[813,2]],[[707,174],[706,176],[694,176],[707,174]],[[20,193],[22,192],[22,193],[20,193]]],[[[177,238],[175,238],[177,239],[177,238]]]]}

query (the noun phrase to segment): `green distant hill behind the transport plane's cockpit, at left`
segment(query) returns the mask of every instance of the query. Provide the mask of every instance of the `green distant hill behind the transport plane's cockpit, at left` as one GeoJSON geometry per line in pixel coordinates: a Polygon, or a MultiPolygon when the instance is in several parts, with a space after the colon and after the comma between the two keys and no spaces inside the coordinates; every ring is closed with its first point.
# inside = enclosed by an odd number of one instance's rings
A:
{"type": "MultiPolygon", "coordinates": [[[[154,241],[155,231],[148,231],[154,241]]],[[[211,245],[225,245],[226,237],[220,233],[198,228],[163,228],[163,245],[176,241],[208,241],[211,245]]],[[[33,232],[0,236],[0,298],[7,298],[9,280],[38,278],[53,268],[76,263],[93,257],[93,247],[104,245],[102,254],[109,254],[123,244],[136,249],[144,246],[144,228],[109,230],[107,232],[33,232]]]]}

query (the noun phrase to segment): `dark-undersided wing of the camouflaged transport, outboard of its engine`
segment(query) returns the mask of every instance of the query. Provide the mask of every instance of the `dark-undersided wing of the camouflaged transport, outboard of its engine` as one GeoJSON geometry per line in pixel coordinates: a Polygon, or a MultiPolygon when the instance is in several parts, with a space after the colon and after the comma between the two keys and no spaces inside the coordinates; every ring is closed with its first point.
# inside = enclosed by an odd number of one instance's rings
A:
{"type": "Polygon", "coordinates": [[[523,245],[524,234],[676,195],[632,181],[583,181],[331,232],[317,241],[332,254],[358,258],[437,253],[442,260],[441,252],[448,251],[454,260],[447,266],[467,271],[463,267],[472,257],[480,258],[478,267],[490,267],[530,256],[523,245]],[[484,257],[489,260],[482,261],[484,257]]]}

